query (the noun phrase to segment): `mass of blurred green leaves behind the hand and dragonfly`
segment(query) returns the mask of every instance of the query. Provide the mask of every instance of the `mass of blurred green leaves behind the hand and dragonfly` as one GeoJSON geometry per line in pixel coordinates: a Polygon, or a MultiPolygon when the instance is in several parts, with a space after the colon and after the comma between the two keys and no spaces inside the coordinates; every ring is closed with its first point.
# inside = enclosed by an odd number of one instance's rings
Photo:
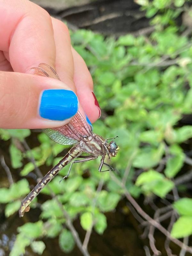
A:
{"type": "MultiPolygon", "coordinates": [[[[186,171],[182,145],[187,147],[192,138],[192,127],[179,123],[183,115],[192,112],[192,44],[188,37],[181,36],[184,28],[178,27],[175,20],[187,1],[136,2],[142,5],[154,26],[150,36],[128,34],[115,39],[77,30],[70,32],[71,41],[91,72],[103,113],[93,124],[93,131],[103,138],[119,136],[119,153],[110,161],[118,170],[113,174],[122,179],[125,170],[129,170],[125,187],[134,197],[143,193],[165,198],[175,187],[175,177],[186,171]],[[164,167],[159,168],[162,164],[164,167]],[[137,169],[140,175],[135,179],[137,169]]],[[[41,133],[37,136],[39,146],[23,152],[22,143],[29,135],[29,130],[0,129],[0,138],[10,142],[12,168],[19,169],[21,176],[9,188],[0,188],[0,203],[6,204],[6,217],[18,211],[21,198],[30,191],[22,176],[34,172],[35,165],[51,169],[68,150],[68,146],[59,145],[41,133]],[[28,158],[33,158],[35,165],[32,161],[26,163],[28,158]]],[[[107,228],[105,213],[116,208],[124,197],[124,189],[111,179],[109,172],[99,173],[99,164],[100,159],[74,164],[70,177],[59,182],[68,172],[66,166],[49,183],[49,188],[44,187],[41,193],[50,197],[41,204],[42,221],[18,228],[11,256],[25,254],[26,246],[42,254],[43,237],[59,236],[61,250],[73,250],[74,238],[66,229],[63,211],[71,221],[79,218],[84,230],[94,228],[103,234],[107,228]],[[97,192],[100,181],[103,187],[97,192]],[[51,198],[50,188],[57,200],[51,198]]],[[[173,225],[172,236],[190,235],[191,199],[181,198],[173,208],[180,218],[173,225]]]]}

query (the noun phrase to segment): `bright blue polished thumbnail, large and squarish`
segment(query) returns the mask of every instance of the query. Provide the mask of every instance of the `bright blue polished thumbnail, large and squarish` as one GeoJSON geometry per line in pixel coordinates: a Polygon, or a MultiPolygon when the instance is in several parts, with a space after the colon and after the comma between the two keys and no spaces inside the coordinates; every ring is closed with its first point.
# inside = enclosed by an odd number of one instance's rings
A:
{"type": "Polygon", "coordinates": [[[63,121],[76,114],[78,99],[70,90],[50,89],[42,93],[39,114],[41,117],[63,121]]]}

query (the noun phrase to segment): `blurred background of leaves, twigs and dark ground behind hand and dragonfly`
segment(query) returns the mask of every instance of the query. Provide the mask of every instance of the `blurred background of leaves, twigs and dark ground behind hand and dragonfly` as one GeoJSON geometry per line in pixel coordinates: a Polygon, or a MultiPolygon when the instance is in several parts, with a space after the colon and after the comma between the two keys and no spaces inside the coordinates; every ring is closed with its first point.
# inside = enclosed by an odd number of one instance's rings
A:
{"type": "Polygon", "coordinates": [[[59,183],[63,168],[20,219],[69,147],[0,129],[0,256],[192,255],[191,1],[33,2],[68,25],[101,107],[93,132],[120,149],[115,172],[97,159],[59,183]]]}

